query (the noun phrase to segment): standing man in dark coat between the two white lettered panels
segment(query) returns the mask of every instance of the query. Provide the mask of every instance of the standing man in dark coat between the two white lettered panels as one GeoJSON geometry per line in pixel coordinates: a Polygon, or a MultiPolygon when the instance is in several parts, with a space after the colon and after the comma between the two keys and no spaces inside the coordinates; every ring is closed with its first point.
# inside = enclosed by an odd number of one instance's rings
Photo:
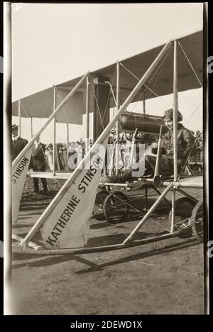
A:
{"type": "MultiPolygon", "coordinates": [[[[33,169],[33,172],[45,172],[45,144],[40,143],[40,136],[35,139],[32,146],[32,157],[29,165],[29,169],[33,169]]],[[[39,192],[38,177],[33,177],[35,192],[39,192]]],[[[47,181],[45,178],[41,178],[44,192],[48,192],[47,181]]]]}

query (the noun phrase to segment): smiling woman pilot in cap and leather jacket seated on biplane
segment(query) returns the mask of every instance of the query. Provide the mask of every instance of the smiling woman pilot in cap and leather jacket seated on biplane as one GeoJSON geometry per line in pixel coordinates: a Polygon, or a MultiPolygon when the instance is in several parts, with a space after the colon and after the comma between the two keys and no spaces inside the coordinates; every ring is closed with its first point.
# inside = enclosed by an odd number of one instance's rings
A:
{"type": "MultiPolygon", "coordinates": [[[[159,160],[159,174],[170,176],[173,175],[173,109],[168,109],[165,111],[163,116],[165,126],[168,128],[165,135],[162,138],[161,144],[161,156],[159,160]]],[[[185,163],[189,153],[190,155],[195,155],[196,148],[193,147],[195,138],[192,135],[191,131],[185,128],[182,123],[182,114],[178,111],[178,135],[177,135],[177,148],[178,148],[178,172],[182,169],[182,166],[185,163]],[[193,147],[193,148],[192,148],[193,147]]],[[[158,148],[158,143],[152,144],[153,150],[158,148]]],[[[145,157],[146,160],[146,170],[148,172],[153,172],[155,170],[156,156],[151,153],[147,154],[145,157]]]]}

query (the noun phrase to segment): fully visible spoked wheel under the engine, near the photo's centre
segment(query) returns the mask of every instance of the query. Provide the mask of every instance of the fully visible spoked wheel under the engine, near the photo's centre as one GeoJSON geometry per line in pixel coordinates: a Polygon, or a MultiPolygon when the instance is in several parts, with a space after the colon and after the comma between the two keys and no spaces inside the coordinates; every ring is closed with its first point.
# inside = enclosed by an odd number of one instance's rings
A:
{"type": "Polygon", "coordinates": [[[111,192],[104,200],[104,216],[109,223],[119,223],[124,220],[129,212],[127,197],[123,192],[111,192]]]}

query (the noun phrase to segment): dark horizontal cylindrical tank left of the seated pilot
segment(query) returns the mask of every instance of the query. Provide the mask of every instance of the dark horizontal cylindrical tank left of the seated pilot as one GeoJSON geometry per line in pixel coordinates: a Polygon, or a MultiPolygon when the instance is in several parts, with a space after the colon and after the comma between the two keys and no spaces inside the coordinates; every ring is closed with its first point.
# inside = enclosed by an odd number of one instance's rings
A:
{"type": "Polygon", "coordinates": [[[125,113],[121,115],[121,129],[126,131],[143,131],[144,133],[159,133],[160,126],[163,125],[163,133],[167,131],[166,126],[163,123],[162,117],[152,117],[145,114],[129,114],[125,113]]]}

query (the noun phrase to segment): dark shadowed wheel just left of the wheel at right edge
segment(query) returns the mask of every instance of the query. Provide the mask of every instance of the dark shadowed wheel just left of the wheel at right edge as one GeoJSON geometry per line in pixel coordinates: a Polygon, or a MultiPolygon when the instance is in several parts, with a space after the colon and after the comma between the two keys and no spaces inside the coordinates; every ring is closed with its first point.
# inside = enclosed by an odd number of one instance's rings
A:
{"type": "MultiPolygon", "coordinates": [[[[189,197],[182,197],[175,201],[175,223],[174,231],[178,236],[191,236],[192,231],[190,227],[190,218],[196,202],[189,197]]],[[[169,214],[170,221],[172,220],[172,211],[169,214]]]]}

